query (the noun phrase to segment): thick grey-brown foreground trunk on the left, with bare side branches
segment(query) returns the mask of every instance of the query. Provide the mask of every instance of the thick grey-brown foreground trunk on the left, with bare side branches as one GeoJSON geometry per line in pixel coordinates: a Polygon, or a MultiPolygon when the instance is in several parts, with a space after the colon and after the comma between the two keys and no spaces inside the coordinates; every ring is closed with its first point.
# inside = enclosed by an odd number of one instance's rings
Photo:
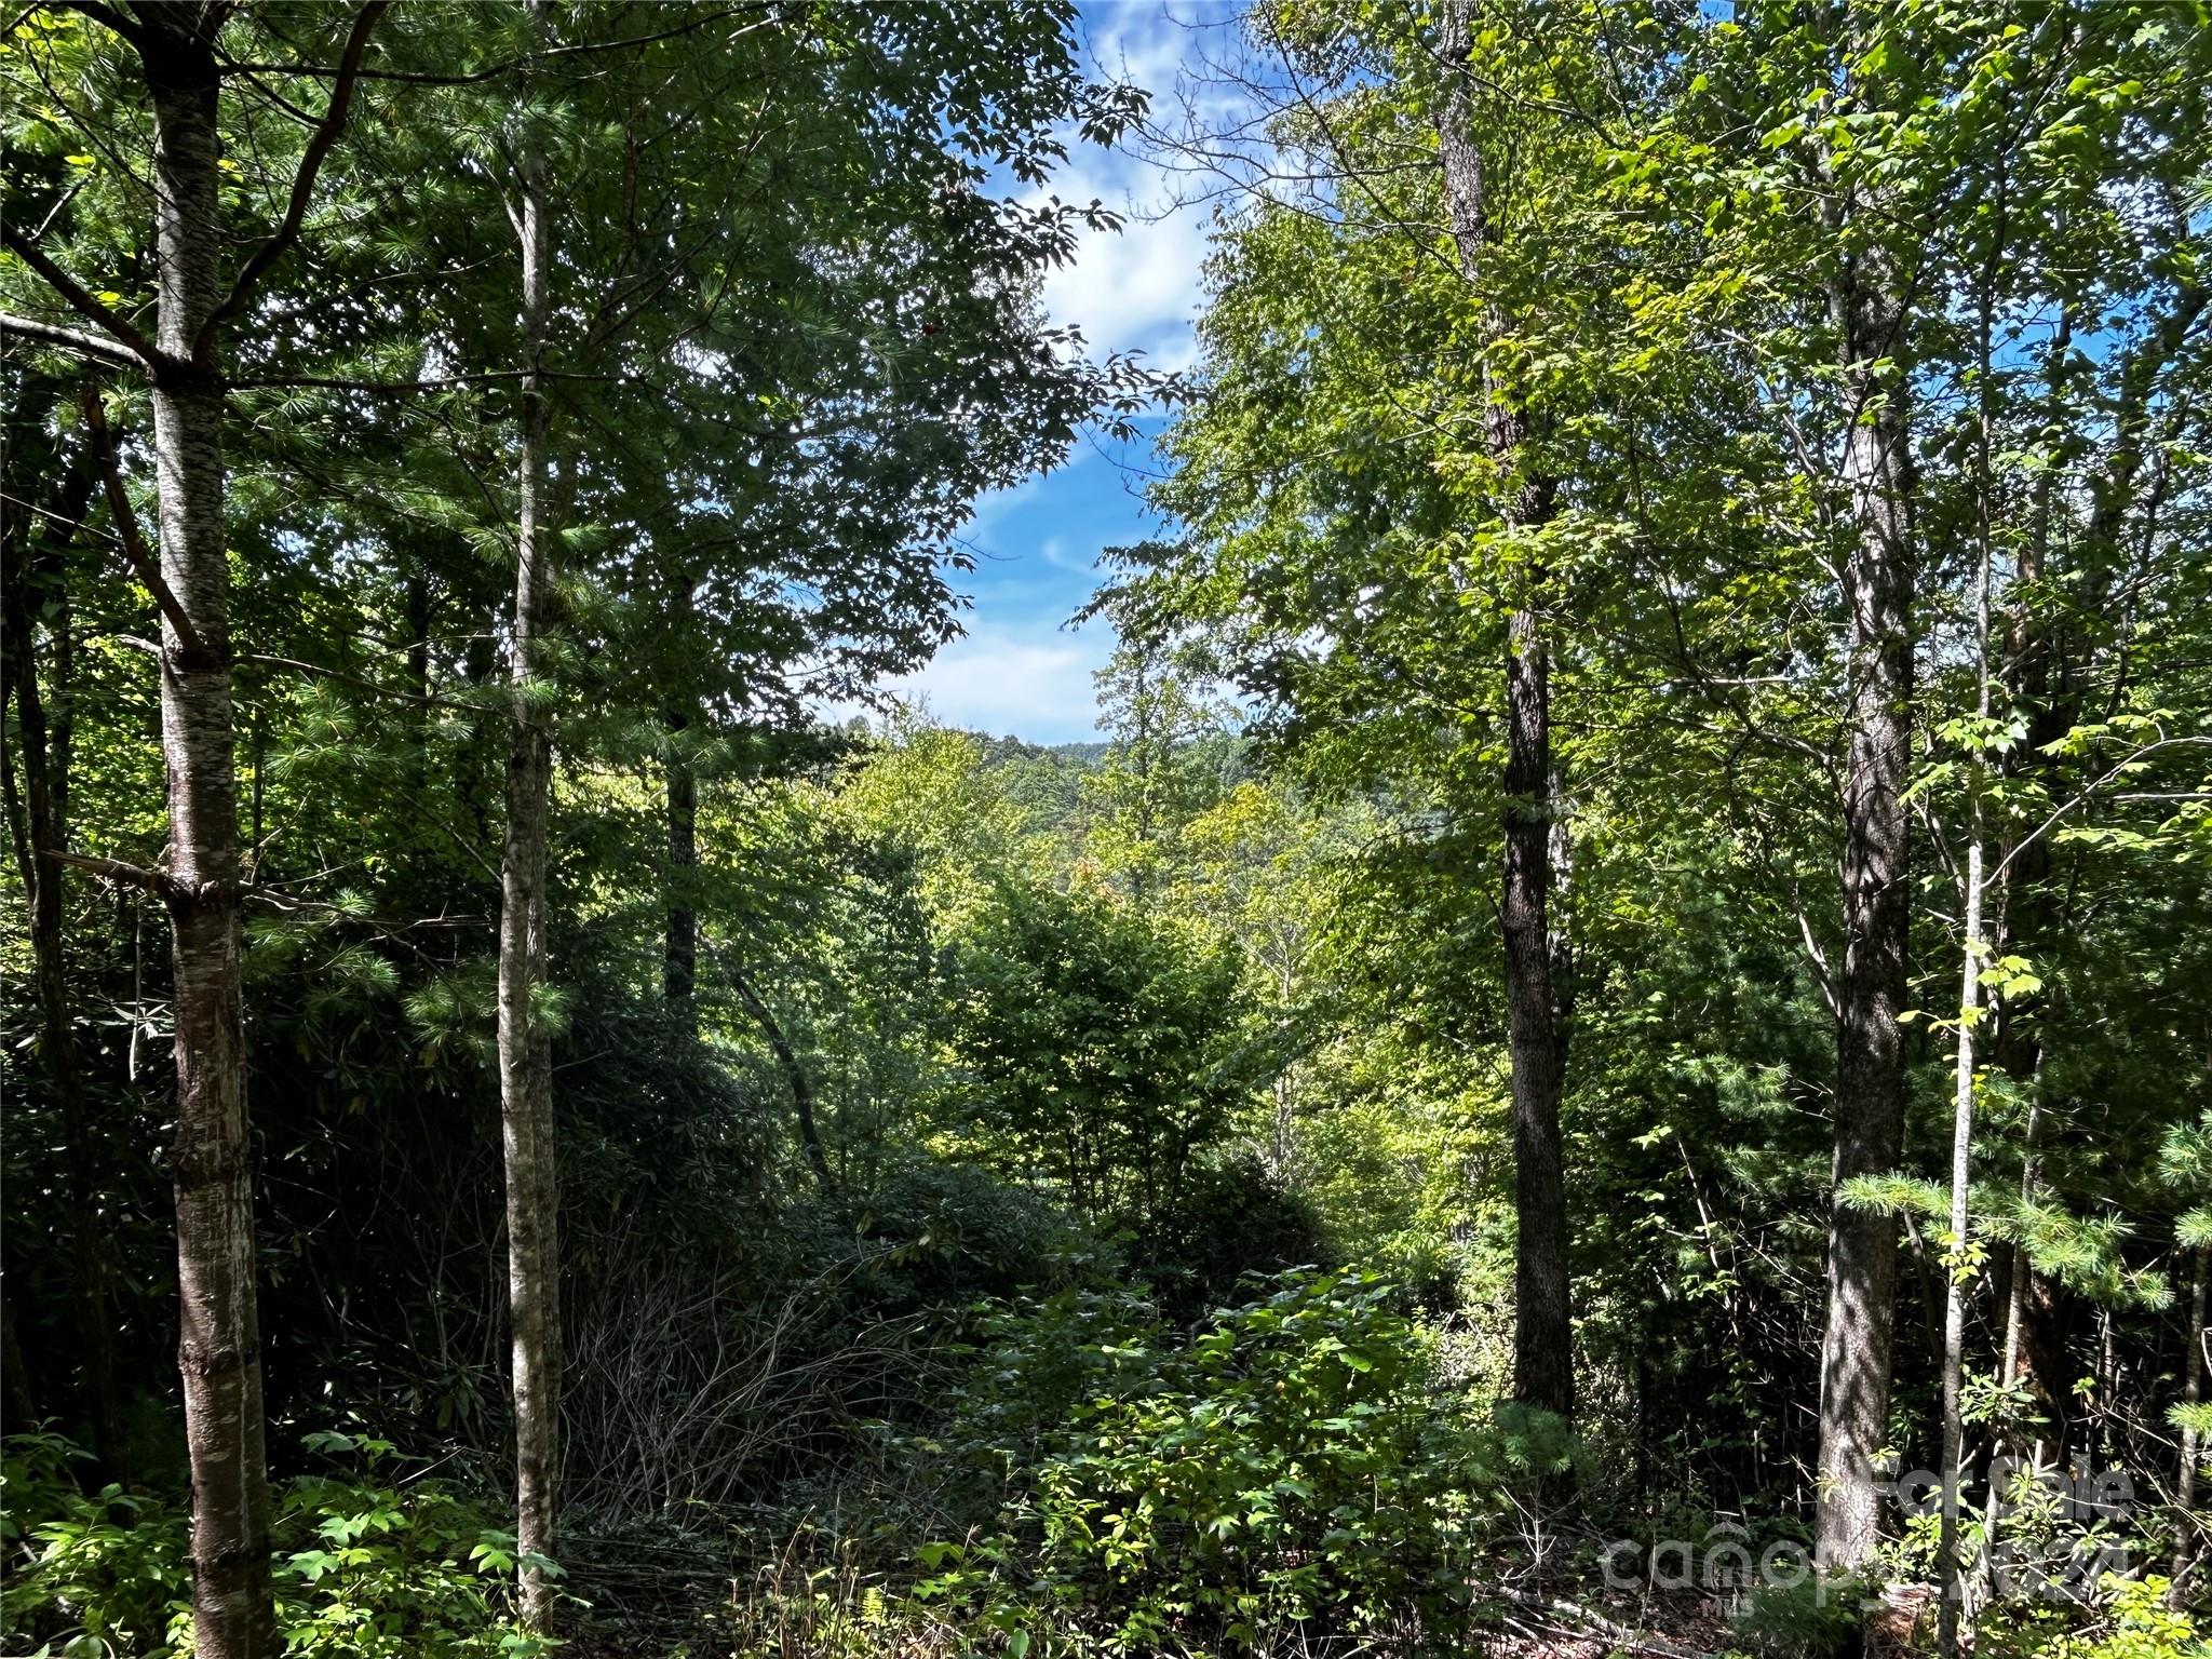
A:
{"type": "Polygon", "coordinates": [[[276,1652],[270,1491],[254,1305],[254,1170],[239,993],[239,790],[230,721],[223,551],[223,394],[199,332],[219,299],[221,206],[212,22],[139,13],[155,122],[155,241],[164,365],[153,376],[161,577],[190,622],[164,617],[175,958],[177,1296],[192,1458],[192,1630],[201,1659],[276,1652]]]}

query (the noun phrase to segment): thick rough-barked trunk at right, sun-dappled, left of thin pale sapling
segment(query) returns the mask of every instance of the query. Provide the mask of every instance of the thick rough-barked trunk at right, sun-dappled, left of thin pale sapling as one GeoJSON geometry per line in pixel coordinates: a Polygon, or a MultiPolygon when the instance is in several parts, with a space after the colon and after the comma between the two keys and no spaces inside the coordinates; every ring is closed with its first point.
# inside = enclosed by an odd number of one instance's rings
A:
{"type": "MultiPolygon", "coordinates": [[[[1858,204],[1863,206],[1863,204],[1858,204]]],[[[1843,1201],[1843,1183],[1893,1170],[1905,1141],[1909,925],[1905,776],[1911,761],[1911,456],[1907,383],[1893,367],[1905,307],[1878,246],[1829,279],[1849,436],[1843,480],[1854,524],[1847,597],[1849,761],[1843,785],[1843,973],[1836,1037],[1836,1199],[1820,1345],[1820,1486],[1814,1544],[1827,1571],[1874,1553],[1874,1458],[1887,1440],[1898,1228],[1843,1201]],[[1880,367],[1887,365],[1887,367],[1880,367]]]]}

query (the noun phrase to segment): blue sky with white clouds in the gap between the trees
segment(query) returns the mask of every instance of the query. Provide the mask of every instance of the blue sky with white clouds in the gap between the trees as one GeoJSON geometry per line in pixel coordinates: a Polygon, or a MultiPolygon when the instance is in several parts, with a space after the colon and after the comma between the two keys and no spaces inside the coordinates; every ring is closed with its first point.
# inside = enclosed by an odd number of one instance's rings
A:
{"type": "MultiPolygon", "coordinates": [[[[1179,71],[1219,42],[1234,15],[1221,0],[1086,4],[1084,46],[1099,75],[1146,86],[1161,108],[1175,100],[1179,71]]],[[[1186,367],[1210,212],[1170,210],[1170,179],[1135,153],[1097,146],[1071,146],[1068,164],[1040,195],[1095,197],[1126,215],[1119,234],[1088,232],[1077,261],[1046,281],[1053,321],[1082,327],[1095,356],[1144,352],[1155,367],[1186,367]]],[[[1104,624],[1062,624],[1097,586],[1102,549],[1159,531],[1141,500],[1148,465],[1141,445],[1121,449],[1093,436],[1055,473],[982,500],[967,531],[975,557],[962,580],[973,599],[967,637],[894,690],[949,726],[1033,743],[1093,737],[1091,672],[1113,637],[1104,624]]]]}

